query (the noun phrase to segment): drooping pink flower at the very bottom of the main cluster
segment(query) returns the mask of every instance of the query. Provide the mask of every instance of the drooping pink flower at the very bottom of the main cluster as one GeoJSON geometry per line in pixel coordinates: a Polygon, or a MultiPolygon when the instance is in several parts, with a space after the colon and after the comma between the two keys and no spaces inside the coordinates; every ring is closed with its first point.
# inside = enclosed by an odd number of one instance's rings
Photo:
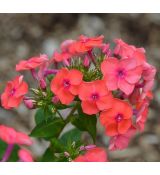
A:
{"type": "Polygon", "coordinates": [[[123,150],[128,147],[130,139],[136,134],[136,129],[132,126],[125,134],[119,134],[111,137],[109,142],[109,150],[123,150]]]}

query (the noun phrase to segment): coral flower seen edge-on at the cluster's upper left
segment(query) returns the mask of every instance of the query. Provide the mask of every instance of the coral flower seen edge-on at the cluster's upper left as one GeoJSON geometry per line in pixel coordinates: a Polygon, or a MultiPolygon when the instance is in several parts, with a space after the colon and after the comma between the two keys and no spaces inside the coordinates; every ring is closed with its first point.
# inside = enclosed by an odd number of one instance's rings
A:
{"type": "Polygon", "coordinates": [[[16,71],[32,70],[41,66],[47,61],[48,61],[48,57],[45,54],[32,57],[29,60],[20,61],[19,64],[16,65],[16,71]]]}

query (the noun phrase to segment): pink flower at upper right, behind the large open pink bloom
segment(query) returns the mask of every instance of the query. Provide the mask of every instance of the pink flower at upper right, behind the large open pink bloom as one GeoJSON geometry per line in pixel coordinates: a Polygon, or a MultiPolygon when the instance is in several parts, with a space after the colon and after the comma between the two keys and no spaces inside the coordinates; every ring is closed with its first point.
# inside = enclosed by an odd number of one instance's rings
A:
{"type": "Polygon", "coordinates": [[[145,50],[144,48],[136,48],[133,45],[128,45],[121,39],[115,40],[116,48],[114,50],[115,55],[121,56],[124,58],[134,58],[136,60],[137,66],[143,65],[146,61],[145,50]]]}

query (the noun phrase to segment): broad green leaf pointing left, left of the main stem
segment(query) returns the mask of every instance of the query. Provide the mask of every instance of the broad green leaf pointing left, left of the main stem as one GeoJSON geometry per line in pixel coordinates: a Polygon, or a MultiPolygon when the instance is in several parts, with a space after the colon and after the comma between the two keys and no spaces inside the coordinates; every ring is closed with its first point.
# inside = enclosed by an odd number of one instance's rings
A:
{"type": "Polygon", "coordinates": [[[43,120],[31,132],[30,136],[38,138],[58,137],[65,123],[60,118],[43,120]]]}

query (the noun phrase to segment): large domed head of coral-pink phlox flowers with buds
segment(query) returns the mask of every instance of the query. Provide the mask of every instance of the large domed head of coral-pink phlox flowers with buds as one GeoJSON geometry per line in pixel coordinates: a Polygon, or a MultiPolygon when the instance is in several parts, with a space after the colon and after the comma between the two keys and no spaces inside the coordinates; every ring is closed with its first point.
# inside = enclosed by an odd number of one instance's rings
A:
{"type": "MultiPolygon", "coordinates": [[[[110,137],[109,150],[125,149],[131,137],[144,130],[156,69],[147,62],[144,48],[116,39],[111,49],[103,40],[81,35],[64,41],[50,59],[43,54],[20,61],[16,71],[31,71],[38,88],[26,97],[28,85],[17,76],[1,95],[2,106],[12,109],[24,101],[29,109],[52,106],[56,112],[57,105],[67,108],[78,102],[84,114],[97,116],[110,137]]],[[[104,155],[101,148],[93,150],[104,155]]],[[[75,161],[89,161],[86,157],[75,161]]]]}

